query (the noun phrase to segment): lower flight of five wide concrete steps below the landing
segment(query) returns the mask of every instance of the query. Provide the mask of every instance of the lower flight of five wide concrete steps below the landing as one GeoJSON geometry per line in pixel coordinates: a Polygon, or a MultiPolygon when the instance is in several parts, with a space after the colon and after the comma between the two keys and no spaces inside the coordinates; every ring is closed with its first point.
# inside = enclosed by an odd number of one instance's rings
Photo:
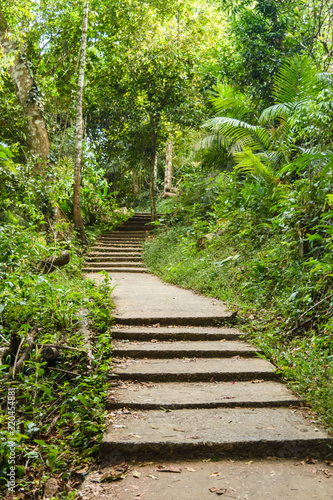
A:
{"type": "Polygon", "coordinates": [[[332,440],[239,330],[170,321],[111,334],[108,461],[330,453],[332,440]]]}

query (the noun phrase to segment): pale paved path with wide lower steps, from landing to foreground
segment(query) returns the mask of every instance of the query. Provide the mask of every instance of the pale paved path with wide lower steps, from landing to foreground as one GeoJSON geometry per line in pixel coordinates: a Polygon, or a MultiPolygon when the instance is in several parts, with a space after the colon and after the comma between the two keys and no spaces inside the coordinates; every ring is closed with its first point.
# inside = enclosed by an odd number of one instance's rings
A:
{"type": "Polygon", "coordinates": [[[331,439],[225,306],[143,272],[110,276],[116,378],[83,498],[333,499],[331,439]]]}

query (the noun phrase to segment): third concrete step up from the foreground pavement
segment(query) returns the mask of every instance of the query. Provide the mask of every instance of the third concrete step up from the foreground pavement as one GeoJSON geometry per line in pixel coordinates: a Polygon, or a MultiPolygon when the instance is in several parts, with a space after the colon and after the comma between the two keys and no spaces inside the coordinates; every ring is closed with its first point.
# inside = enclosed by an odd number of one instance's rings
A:
{"type": "Polygon", "coordinates": [[[123,358],[113,373],[121,380],[150,382],[208,382],[236,380],[273,380],[274,366],[265,359],[143,359],[123,358]]]}

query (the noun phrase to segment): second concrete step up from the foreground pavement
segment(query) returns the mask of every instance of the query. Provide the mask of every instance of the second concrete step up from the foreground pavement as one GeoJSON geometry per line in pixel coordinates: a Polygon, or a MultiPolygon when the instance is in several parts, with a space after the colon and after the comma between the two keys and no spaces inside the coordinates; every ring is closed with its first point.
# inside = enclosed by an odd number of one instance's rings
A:
{"type": "Polygon", "coordinates": [[[134,384],[115,382],[107,408],[234,408],[299,406],[301,401],[279,382],[183,382],[134,384]]]}

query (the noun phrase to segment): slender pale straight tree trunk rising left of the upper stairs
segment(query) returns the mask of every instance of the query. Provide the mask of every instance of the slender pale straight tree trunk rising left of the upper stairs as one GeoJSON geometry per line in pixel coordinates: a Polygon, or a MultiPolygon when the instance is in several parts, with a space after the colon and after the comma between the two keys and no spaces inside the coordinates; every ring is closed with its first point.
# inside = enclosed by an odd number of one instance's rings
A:
{"type": "Polygon", "coordinates": [[[81,206],[80,206],[80,181],[81,181],[81,159],[82,159],[82,136],[83,136],[82,100],[83,100],[83,87],[84,87],[84,70],[86,65],[88,13],[89,13],[89,0],[86,0],[83,6],[82,37],[81,37],[81,47],[80,47],[80,69],[79,69],[79,81],[77,85],[75,169],[74,169],[74,193],[73,193],[74,226],[79,234],[80,240],[83,243],[87,243],[87,238],[84,230],[82,214],[81,214],[81,206]]]}

